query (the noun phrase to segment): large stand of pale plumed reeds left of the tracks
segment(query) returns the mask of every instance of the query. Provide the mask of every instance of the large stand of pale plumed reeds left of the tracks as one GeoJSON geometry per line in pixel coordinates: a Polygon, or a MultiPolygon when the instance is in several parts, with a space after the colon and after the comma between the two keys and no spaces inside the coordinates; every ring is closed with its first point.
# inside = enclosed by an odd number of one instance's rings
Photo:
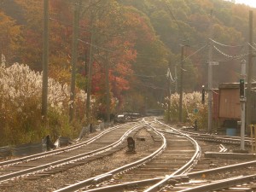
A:
{"type": "MultiPolygon", "coordinates": [[[[42,121],[42,74],[26,65],[0,66],[0,145],[34,143],[46,135],[78,137],[84,111],[76,111],[76,123],[69,124],[70,88],[49,79],[48,117],[42,121]],[[79,127],[77,127],[79,126],[79,127]]],[[[77,90],[76,101],[85,107],[86,94],[77,90]]]]}

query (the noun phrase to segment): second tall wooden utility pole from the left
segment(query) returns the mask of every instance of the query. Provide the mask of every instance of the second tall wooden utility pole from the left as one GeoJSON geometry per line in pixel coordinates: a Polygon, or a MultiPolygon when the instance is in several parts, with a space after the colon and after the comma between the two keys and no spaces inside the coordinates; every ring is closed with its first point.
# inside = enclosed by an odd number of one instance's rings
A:
{"type": "Polygon", "coordinates": [[[81,0],[75,3],[73,14],[73,47],[72,47],[72,74],[71,74],[71,87],[70,87],[70,101],[69,106],[69,121],[73,120],[74,113],[74,100],[75,100],[75,87],[76,87],[76,68],[78,61],[78,42],[79,42],[79,8],[81,7],[81,0]]]}

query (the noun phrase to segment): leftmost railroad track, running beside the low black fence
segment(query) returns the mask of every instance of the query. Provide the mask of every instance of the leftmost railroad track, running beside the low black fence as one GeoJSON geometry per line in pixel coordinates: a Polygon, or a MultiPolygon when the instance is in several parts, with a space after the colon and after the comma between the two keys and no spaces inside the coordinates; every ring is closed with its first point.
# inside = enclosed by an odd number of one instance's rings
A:
{"type": "Polygon", "coordinates": [[[37,179],[112,154],[120,148],[125,148],[125,138],[135,134],[143,125],[144,123],[115,126],[71,147],[3,161],[0,163],[0,188],[9,186],[9,181],[17,177],[37,179]]]}

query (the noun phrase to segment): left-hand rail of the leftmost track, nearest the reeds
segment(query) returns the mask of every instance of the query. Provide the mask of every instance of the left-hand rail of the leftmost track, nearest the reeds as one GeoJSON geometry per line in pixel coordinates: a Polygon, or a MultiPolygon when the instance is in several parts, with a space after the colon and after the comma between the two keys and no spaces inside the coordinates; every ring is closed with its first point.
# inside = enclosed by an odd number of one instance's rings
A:
{"type": "MultiPolygon", "coordinates": [[[[128,123],[128,124],[130,124],[130,123],[128,123]]],[[[125,124],[125,125],[127,125],[127,124],[125,124]]],[[[116,129],[119,129],[120,127],[123,127],[125,125],[117,125],[117,126],[111,127],[108,130],[102,131],[100,134],[96,135],[96,137],[92,137],[92,138],[90,138],[89,140],[87,140],[83,143],[75,144],[73,146],[68,146],[68,147],[60,148],[60,149],[55,149],[55,150],[40,153],[40,154],[32,154],[32,155],[22,157],[22,158],[18,158],[18,159],[15,159],[15,160],[6,160],[6,161],[3,161],[3,162],[0,162],[0,168],[3,167],[3,166],[19,164],[19,163],[22,163],[22,162],[28,161],[28,160],[37,160],[37,159],[44,158],[44,157],[49,156],[49,155],[61,154],[63,152],[67,152],[67,151],[70,151],[70,150],[73,150],[73,149],[76,149],[76,148],[81,148],[84,145],[95,142],[96,139],[102,137],[106,133],[108,133],[110,131],[113,131],[113,130],[116,130],[116,129]]]]}

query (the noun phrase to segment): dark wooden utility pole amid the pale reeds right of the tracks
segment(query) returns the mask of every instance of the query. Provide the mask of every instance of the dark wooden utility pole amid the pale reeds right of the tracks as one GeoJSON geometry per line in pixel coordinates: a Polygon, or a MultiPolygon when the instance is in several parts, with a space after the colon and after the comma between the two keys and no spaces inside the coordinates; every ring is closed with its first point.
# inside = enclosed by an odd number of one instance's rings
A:
{"type": "Polygon", "coordinates": [[[180,86],[179,86],[179,109],[178,109],[178,120],[183,121],[183,63],[184,63],[184,47],[182,45],[181,52],[181,67],[180,67],[180,86]]]}

